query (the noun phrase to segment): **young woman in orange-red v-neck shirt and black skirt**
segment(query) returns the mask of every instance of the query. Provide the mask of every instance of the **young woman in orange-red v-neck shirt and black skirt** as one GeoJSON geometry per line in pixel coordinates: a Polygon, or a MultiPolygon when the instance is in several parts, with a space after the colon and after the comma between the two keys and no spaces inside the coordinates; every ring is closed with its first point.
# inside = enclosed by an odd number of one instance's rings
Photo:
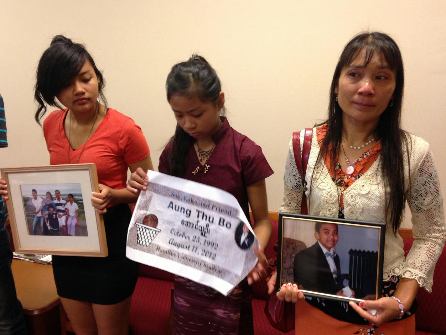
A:
{"type": "Polygon", "coordinates": [[[50,164],[96,163],[100,193],[93,193],[91,204],[103,214],[108,247],[105,258],[53,257],[58,295],[76,334],[128,334],[139,264],[125,257],[128,203],[137,198],[125,189],[127,171],[153,169],[140,127],[107,108],[103,87],[84,46],[54,37],[37,67],[35,119],[40,124],[45,103],[60,108],[43,123],[50,164]]]}

